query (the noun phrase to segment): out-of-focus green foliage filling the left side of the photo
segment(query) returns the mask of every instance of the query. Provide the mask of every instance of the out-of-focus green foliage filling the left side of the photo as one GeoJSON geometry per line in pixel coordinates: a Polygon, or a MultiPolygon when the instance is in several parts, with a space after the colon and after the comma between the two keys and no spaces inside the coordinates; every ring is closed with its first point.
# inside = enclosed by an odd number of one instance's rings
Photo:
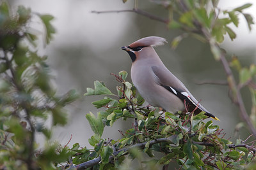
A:
{"type": "Polygon", "coordinates": [[[45,60],[36,52],[38,41],[46,43],[55,32],[51,15],[33,13],[19,6],[16,11],[8,3],[0,3],[0,169],[56,169],[55,162],[67,160],[70,153],[58,144],[38,149],[35,134],[51,138],[51,127],[44,122],[52,118],[52,126],[65,125],[63,108],[77,99],[70,90],[56,96],[52,76],[45,60]],[[44,37],[31,33],[31,18],[41,22],[44,37]]]}

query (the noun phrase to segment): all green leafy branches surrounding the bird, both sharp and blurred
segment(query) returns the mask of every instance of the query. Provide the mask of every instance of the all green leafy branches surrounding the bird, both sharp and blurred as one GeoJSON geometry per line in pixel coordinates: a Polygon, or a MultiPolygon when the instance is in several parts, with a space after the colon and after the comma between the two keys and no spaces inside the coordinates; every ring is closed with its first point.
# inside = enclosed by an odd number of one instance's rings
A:
{"type": "MultiPolygon", "coordinates": [[[[209,44],[212,56],[227,74],[230,97],[255,138],[256,67],[241,66],[237,57],[228,60],[225,50],[220,48],[225,34],[236,38],[230,24],[238,27],[238,15],[243,15],[252,29],[253,18],[244,13],[252,4],[222,10],[214,0],[152,2],[167,10],[168,17],[140,10],[138,4],[145,2],[136,0],[129,11],[164,22],[169,29],[184,31],[173,39],[173,48],[188,36],[209,44]],[[251,113],[244,108],[242,88],[250,90],[251,113]]],[[[127,10],[118,12],[123,11],[127,10]]],[[[132,83],[126,81],[126,71],[113,74],[116,92],[111,92],[102,81],[95,81],[94,89],[87,88],[85,96],[104,96],[92,103],[101,109],[97,116],[86,115],[94,132],[89,139],[91,146],[75,143],[68,147],[47,142],[39,149],[36,133],[44,134],[47,141],[51,139],[51,128],[42,122],[51,117],[52,127],[65,125],[65,106],[79,97],[75,90],[56,95],[51,70],[45,62],[47,57],[37,53],[38,41],[48,44],[55,32],[52,19],[51,15],[41,15],[23,6],[12,11],[6,2],[0,3],[0,169],[131,169],[131,160],[136,161],[134,167],[138,169],[168,169],[170,163],[179,169],[256,168],[256,148],[254,141],[248,140],[252,135],[232,143],[225,138],[225,130],[214,125],[204,112],[175,115],[145,106],[132,83]],[[42,24],[43,37],[31,31],[32,17],[42,24]],[[111,127],[120,118],[124,122],[133,120],[131,129],[119,131],[121,139],[103,139],[104,127],[111,127]]]]}

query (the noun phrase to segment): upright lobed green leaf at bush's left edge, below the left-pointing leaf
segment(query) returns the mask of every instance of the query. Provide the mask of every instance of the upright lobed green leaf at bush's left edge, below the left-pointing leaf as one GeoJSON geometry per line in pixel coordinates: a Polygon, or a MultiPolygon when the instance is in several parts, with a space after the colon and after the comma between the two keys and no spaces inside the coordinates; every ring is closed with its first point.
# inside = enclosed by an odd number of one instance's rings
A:
{"type": "Polygon", "coordinates": [[[104,130],[104,125],[100,113],[98,113],[98,116],[96,118],[95,115],[93,115],[93,113],[90,112],[90,114],[86,115],[86,118],[92,128],[92,131],[100,138],[104,130]]]}

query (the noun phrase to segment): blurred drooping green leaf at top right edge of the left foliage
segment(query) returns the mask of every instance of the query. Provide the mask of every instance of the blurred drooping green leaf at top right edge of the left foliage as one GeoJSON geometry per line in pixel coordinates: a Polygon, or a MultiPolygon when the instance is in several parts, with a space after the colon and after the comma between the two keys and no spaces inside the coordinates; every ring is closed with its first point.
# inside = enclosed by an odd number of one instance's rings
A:
{"type": "Polygon", "coordinates": [[[52,39],[52,34],[55,33],[55,29],[51,24],[51,20],[54,19],[54,17],[52,17],[52,15],[38,15],[42,22],[45,25],[45,29],[46,29],[46,35],[45,35],[45,39],[46,39],[46,43],[49,44],[50,40],[52,39]]]}

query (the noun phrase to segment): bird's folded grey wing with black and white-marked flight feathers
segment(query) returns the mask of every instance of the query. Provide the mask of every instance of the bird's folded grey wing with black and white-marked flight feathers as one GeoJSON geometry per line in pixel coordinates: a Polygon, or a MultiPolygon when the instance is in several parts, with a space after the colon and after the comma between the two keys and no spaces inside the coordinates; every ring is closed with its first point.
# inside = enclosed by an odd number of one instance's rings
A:
{"type": "Polygon", "coordinates": [[[188,91],[184,84],[177,77],[175,77],[166,67],[152,66],[151,68],[157,84],[161,85],[169,92],[175,94],[175,96],[179,97],[180,100],[186,101],[187,104],[193,106],[193,109],[197,107],[199,109],[199,112],[205,111],[205,115],[216,118],[200,103],[198,103],[198,101],[196,101],[195,97],[192,96],[192,94],[188,91]]]}

